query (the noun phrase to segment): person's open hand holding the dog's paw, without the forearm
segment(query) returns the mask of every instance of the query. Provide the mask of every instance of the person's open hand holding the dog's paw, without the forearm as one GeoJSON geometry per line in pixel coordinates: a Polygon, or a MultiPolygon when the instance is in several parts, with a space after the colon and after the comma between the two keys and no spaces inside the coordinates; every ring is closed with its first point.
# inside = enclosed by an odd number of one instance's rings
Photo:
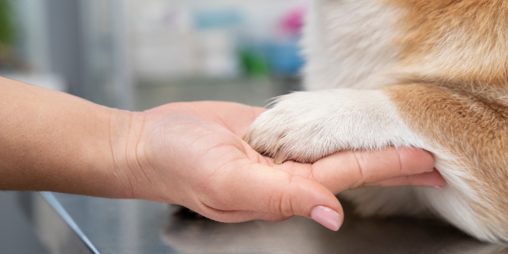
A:
{"type": "Polygon", "coordinates": [[[125,150],[129,197],[183,205],[223,222],[301,215],[338,230],[343,211],[334,194],[343,190],[444,184],[439,173],[427,172],[432,156],[412,148],[344,151],[314,164],[274,165],[240,139],[263,111],[193,102],[134,113],[125,150]]]}

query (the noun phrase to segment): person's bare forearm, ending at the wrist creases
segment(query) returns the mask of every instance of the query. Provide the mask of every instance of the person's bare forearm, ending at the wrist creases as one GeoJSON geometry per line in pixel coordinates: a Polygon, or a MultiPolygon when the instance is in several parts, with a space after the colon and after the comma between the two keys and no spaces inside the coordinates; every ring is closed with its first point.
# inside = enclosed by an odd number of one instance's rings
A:
{"type": "Polygon", "coordinates": [[[113,154],[130,112],[2,77],[0,91],[0,189],[125,197],[113,154]]]}

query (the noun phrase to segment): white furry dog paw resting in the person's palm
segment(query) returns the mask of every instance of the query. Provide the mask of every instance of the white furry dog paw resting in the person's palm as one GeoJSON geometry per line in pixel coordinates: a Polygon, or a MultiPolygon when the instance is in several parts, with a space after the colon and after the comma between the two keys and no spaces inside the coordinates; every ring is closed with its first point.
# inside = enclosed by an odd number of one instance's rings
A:
{"type": "Polygon", "coordinates": [[[379,90],[294,92],[260,115],[244,140],[280,164],[313,163],[342,150],[405,146],[412,136],[379,90]]]}

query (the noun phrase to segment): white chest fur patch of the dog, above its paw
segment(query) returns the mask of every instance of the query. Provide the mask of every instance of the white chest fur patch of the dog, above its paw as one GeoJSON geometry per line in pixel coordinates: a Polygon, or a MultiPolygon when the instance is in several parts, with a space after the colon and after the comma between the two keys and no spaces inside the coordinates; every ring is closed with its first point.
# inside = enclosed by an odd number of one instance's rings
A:
{"type": "Polygon", "coordinates": [[[307,15],[303,53],[306,90],[380,88],[401,49],[393,43],[398,10],[382,1],[314,0],[307,15]],[[378,3],[379,2],[379,3],[378,3]]]}

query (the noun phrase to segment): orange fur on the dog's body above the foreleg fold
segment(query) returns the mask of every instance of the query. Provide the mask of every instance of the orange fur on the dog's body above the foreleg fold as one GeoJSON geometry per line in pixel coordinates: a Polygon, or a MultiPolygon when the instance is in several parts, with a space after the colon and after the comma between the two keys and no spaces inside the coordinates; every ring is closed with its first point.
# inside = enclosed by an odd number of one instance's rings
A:
{"type": "Polygon", "coordinates": [[[410,81],[508,84],[508,1],[390,0],[405,10],[393,69],[410,81]]]}

